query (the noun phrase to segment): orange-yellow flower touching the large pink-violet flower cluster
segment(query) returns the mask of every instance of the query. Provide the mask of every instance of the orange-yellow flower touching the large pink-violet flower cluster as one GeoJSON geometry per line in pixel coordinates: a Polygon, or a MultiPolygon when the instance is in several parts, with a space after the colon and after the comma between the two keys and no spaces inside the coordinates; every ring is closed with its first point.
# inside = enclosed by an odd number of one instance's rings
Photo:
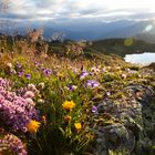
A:
{"type": "Polygon", "coordinates": [[[34,120],[31,120],[30,123],[27,125],[28,132],[30,133],[37,133],[37,131],[40,127],[40,122],[37,122],[34,120]]]}

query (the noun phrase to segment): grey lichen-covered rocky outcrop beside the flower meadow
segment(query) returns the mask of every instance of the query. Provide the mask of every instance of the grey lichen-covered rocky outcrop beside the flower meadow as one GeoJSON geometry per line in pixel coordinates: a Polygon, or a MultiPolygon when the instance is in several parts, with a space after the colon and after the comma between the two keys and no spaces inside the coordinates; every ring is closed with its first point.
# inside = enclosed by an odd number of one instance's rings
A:
{"type": "Polygon", "coordinates": [[[111,122],[96,126],[94,155],[155,154],[155,90],[128,85],[124,91],[128,99],[104,100],[97,105],[103,118],[111,115],[111,122]]]}

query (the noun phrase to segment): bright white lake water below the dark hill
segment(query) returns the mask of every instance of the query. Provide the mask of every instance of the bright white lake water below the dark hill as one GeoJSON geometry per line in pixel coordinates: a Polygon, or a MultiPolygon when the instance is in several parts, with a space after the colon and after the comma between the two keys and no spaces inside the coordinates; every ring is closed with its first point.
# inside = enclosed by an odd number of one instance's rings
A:
{"type": "Polygon", "coordinates": [[[126,54],[124,59],[126,62],[147,65],[155,62],[155,53],[144,52],[138,54],[126,54]]]}

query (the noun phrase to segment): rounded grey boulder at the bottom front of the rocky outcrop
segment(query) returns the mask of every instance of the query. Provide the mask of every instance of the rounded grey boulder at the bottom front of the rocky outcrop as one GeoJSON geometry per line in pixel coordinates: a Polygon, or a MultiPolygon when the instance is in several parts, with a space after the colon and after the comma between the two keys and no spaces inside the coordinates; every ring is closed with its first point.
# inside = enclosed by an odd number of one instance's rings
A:
{"type": "Polygon", "coordinates": [[[127,151],[131,152],[134,149],[135,137],[131,131],[122,124],[112,124],[105,127],[99,127],[97,130],[97,154],[105,154],[105,151],[117,149],[120,152],[127,151]],[[101,147],[103,146],[104,147],[101,147]],[[106,147],[105,147],[106,146],[106,147]]]}

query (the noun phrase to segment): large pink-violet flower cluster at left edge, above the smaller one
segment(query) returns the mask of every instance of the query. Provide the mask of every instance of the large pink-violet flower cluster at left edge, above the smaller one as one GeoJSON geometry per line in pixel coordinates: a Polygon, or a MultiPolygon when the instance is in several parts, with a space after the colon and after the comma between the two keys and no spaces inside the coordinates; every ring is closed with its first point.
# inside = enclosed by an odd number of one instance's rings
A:
{"type": "Polygon", "coordinates": [[[17,95],[16,92],[7,91],[0,80],[0,117],[13,132],[27,132],[27,124],[31,120],[39,120],[39,112],[32,101],[32,92],[25,92],[25,96],[17,95]]]}

